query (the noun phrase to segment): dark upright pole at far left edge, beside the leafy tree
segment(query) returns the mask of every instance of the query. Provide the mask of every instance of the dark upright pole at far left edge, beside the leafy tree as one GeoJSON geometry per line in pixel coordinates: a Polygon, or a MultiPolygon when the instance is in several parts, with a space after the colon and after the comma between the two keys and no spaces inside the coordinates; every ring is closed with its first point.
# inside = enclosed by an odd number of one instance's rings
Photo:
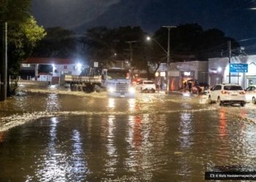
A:
{"type": "Polygon", "coordinates": [[[4,101],[7,98],[7,23],[1,23],[0,45],[0,101],[4,101]]]}

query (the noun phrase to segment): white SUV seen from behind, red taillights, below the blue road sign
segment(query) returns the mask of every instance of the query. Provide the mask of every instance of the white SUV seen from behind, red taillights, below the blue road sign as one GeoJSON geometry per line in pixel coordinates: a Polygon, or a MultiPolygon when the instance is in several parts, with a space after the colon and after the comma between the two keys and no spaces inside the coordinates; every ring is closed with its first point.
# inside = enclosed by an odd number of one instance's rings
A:
{"type": "Polygon", "coordinates": [[[238,84],[215,84],[208,94],[208,103],[224,104],[239,103],[242,107],[246,103],[245,91],[238,84]]]}

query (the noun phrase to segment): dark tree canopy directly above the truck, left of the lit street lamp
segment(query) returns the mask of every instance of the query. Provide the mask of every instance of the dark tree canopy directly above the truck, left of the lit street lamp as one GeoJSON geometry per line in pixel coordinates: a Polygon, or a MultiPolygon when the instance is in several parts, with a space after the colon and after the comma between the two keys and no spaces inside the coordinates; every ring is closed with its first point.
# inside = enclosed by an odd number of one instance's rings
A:
{"type": "Polygon", "coordinates": [[[114,60],[113,55],[118,55],[121,60],[132,60],[132,66],[138,66],[143,59],[140,42],[144,36],[140,27],[95,27],[87,30],[80,42],[91,60],[90,64],[98,61],[105,65],[114,60]]]}

